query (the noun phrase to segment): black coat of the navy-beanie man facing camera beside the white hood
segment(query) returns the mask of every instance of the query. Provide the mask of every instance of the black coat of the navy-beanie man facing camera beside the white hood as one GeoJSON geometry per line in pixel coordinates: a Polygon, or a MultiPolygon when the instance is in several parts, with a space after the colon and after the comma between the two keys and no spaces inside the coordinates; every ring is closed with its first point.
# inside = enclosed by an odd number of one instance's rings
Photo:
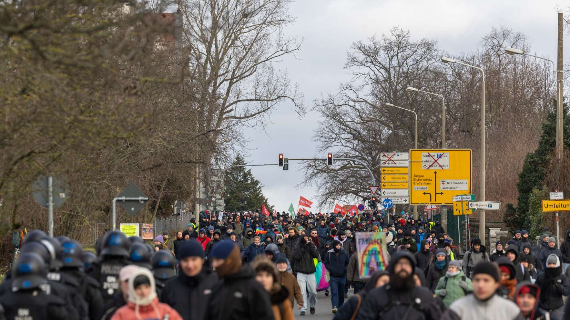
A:
{"type": "Polygon", "coordinates": [[[205,268],[194,277],[180,270],[178,276],[166,281],[160,301],[172,306],[185,320],[202,319],[206,314],[205,301],[217,283],[218,276],[205,268]]]}

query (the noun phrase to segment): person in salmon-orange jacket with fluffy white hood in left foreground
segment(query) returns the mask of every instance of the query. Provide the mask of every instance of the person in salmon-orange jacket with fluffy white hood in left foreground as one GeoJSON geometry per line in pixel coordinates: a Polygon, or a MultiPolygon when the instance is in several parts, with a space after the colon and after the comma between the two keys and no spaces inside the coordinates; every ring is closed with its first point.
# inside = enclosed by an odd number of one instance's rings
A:
{"type": "Polygon", "coordinates": [[[127,305],[117,309],[111,320],[182,320],[176,310],[166,303],[158,302],[150,270],[142,267],[136,269],[129,277],[128,285],[127,305]]]}

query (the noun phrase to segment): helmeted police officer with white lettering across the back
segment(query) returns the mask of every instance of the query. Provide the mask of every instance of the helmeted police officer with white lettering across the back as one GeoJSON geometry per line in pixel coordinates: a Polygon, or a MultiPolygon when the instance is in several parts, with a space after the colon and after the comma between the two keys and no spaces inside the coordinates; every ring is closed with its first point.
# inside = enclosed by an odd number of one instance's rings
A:
{"type": "Polygon", "coordinates": [[[119,290],[119,272],[130,263],[127,260],[130,246],[127,236],[117,230],[105,233],[100,241],[100,259],[93,262],[88,274],[99,282],[103,302],[112,300],[119,290]]]}

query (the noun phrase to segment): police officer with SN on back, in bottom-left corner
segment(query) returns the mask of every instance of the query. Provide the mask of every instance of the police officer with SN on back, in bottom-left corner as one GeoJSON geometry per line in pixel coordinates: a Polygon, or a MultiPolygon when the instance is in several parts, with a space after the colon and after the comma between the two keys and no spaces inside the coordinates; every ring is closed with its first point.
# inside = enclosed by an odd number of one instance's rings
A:
{"type": "Polygon", "coordinates": [[[20,253],[14,262],[9,292],[0,296],[7,319],[69,320],[72,319],[61,298],[40,289],[48,285],[47,266],[37,253],[20,253]]]}

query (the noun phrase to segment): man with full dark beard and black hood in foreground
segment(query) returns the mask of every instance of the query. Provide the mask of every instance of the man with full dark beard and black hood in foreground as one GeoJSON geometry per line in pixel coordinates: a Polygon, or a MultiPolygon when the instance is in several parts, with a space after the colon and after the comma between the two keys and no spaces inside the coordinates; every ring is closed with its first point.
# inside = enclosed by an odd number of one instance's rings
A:
{"type": "Polygon", "coordinates": [[[439,319],[441,307],[436,298],[430,290],[416,286],[414,264],[408,251],[394,253],[388,265],[388,284],[367,294],[356,319],[439,319]]]}

